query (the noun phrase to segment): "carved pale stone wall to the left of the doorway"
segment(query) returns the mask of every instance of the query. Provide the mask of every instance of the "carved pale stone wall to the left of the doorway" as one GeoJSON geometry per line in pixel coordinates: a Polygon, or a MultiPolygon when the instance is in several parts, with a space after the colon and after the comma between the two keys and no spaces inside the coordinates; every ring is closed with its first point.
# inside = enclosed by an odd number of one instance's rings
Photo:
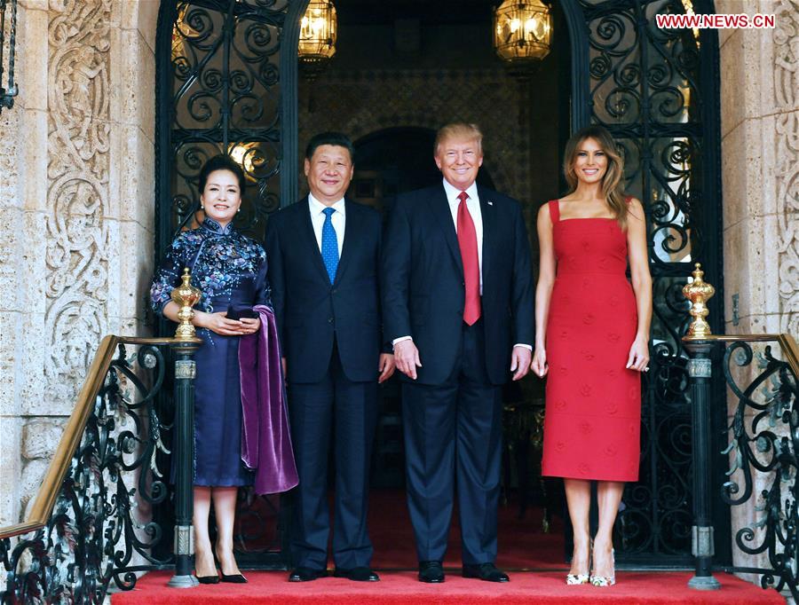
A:
{"type": "Polygon", "coordinates": [[[0,525],[36,493],[104,334],[144,332],[154,0],[20,0],[0,116],[0,525]]]}

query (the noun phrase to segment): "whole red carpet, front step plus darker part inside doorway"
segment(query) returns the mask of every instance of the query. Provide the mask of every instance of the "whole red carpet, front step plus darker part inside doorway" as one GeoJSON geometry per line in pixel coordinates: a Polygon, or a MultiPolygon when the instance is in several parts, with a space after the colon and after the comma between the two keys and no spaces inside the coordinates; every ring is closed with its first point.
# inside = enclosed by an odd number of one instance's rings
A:
{"type": "MultiPolygon", "coordinates": [[[[494,602],[575,603],[589,605],[719,603],[721,605],[785,605],[774,590],[763,589],[726,574],[716,578],[723,587],[702,593],[686,583],[692,574],[680,572],[619,572],[618,585],[610,588],[566,586],[563,526],[556,518],[550,533],[542,532],[542,512],[531,508],[519,521],[518,507],[500,508],[499,556],[497,564],[510,571],[510,584],[497,585],[460,577],[461,551],[457,515],[450,532],[443,585],[425,585],[416,580],[416,555],[410,520],[401,491],[374,490],[370,497],[369,533],[375,545],[373,566],[382,580],[359,584],[346,579],[321,578],[304,584],[289,584],[285,571],[247,571],[249,584],[201,585],[192,589],[168,588],[170,572],[147,574],[136,589],[117,593],[113,605],[181,605],[199,603],[319,603],[320,605],[469,605],[494,602]],[[535,571],[529,571],[535,570],[535,571]]],[[[331,563],[332,567],[332,563],[331,563]]]]}

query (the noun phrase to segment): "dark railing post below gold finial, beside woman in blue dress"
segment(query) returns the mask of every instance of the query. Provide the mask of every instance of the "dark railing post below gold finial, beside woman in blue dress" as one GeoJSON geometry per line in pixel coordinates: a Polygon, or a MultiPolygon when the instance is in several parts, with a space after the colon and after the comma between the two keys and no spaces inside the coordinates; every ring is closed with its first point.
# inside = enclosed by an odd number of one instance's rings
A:
{"type": "Polygon", "coordinates": [[[175,360],[175,575],[169,585],[191,588],[194,578],[194,351],[197,342],[172,343],[175,360]]]}

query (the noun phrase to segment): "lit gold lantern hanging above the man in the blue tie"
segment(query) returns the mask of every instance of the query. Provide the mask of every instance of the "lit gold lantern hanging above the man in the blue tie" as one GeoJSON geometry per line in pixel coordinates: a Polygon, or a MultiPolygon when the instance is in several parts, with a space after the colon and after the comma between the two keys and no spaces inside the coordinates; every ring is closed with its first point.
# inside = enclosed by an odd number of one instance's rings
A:
{"type": "Polygon", "coordinates": [[[312,80],[336,54],[336,7],[330,0],[311,0],[300,21],[300,70],[312,80]]]}

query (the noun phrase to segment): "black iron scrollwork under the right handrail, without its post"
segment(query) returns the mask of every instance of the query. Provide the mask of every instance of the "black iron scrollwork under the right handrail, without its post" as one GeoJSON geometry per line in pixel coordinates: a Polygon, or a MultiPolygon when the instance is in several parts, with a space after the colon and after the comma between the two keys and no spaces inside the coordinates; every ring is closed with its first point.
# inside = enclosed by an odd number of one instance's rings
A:
{"type": "Polygon", "coordinates": [[[748,342],[734,342],[724,353],[724,378],[738,399],[730,444],[731,466],[722,499],[732,507],[755,499],[755,522],[735,533],[734,548],[760,556],[763,567],[736,571],[761,575],[763,588],[789,590],[799,599],[799,381],[787,362],[748,342]],[[747,385],[747,386],[742,386],[747,385]]]}

